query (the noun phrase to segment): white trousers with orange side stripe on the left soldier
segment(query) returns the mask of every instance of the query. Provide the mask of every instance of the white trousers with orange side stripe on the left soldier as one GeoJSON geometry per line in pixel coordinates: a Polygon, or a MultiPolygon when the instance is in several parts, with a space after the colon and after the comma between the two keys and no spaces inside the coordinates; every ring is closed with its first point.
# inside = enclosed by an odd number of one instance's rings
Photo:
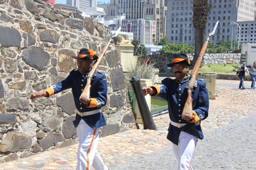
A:
{"type": "Polygon", "coordinates": [[[77,126],[77,136],[79,140],[77,170],[90,170],[91,166],[95,170],[108,170],[97,152],[99,128],[92,129],[81,119],[77,126]]]}

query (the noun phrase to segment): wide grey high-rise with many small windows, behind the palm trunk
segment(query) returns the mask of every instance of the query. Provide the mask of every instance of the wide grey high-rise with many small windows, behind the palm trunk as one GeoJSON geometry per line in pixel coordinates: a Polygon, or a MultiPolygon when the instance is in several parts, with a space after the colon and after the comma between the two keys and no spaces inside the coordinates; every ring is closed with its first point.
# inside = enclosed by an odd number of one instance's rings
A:
{"type": "MultiPolygon", "coordinates": [[[[219,24],[211,41],[231,39],[231,21],[254,20],[254,0],[208,0],[211,4],[204,37],[212,32],[216,22],[219,24]]],[[[193,0],[168,0],[166,14],[166,37],[170,43],[195,45],[193,27],[193,0]]],[[[234,34],[233,34],[234,36],[234,34]]],[[[235,39],[235,37],[233,37],[235,39]]]]}

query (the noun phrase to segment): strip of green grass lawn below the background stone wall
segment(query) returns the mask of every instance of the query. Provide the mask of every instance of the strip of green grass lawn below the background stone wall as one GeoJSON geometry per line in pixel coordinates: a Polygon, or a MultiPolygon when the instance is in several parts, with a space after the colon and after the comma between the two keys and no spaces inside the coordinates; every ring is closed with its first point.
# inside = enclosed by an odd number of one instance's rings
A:
{"type": "Polygon", "coordinates": [[[237,68],[235,71],[233,66],[240,66],[240,64],[205,64],[199,69],[199,73],[205,72],[216,72],[217,74],[231,74],[235,75],[237,72],[237,68]]]}

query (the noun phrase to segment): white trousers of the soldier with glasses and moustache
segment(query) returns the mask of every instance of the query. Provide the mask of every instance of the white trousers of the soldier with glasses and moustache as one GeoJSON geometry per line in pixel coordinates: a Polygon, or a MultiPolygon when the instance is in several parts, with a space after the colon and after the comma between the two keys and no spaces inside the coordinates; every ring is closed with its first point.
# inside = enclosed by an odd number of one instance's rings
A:
{"type": "Polygon", "coordinates": [[[196,147],[197,137],[181,131],[178,146],[172,144],[178,160],[178,170],[193,170],[190,161],[196,147]]]}

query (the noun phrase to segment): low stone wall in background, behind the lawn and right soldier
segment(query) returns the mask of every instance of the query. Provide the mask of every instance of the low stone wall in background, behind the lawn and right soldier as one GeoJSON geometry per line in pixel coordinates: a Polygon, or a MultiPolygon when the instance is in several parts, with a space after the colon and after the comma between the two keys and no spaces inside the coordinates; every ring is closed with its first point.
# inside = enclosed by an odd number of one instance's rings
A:
{"type": "MultiPolygon", "coordinates": [[[[188,57],[193,60],[194,54],[187,54],[188,57]]],[[[238,64],[240,63],[240,53],[219,53],[219,54],[205,54],[203,57],[204,64],[238,64]]],[[[156,68],[160,73],[171,73],[170,69],[167,69],[174,54],[152,54],[148,56],[151,61],[156,62],[156,68]]]]}

